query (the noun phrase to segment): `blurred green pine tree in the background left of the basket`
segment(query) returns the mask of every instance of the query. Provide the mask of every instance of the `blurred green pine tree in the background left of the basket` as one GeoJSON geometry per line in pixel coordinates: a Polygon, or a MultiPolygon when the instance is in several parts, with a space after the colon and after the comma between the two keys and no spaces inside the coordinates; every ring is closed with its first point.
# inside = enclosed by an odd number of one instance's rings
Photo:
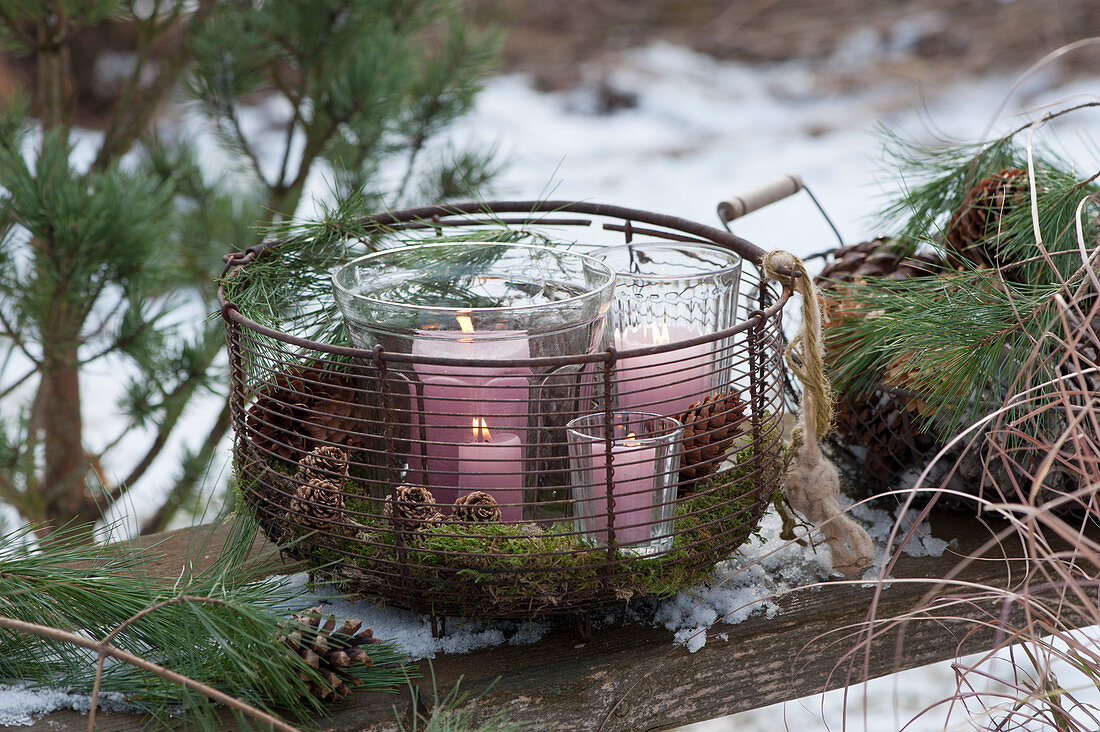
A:
{"type": "MultiPolygon", "coordinates": [[[[34,391],[6,405],[0,500],[28,518],[97,520],[147,474],[193,397],[220,389],[220,324],[178,314],[212,309],[221,254],[292,219],[311,173],[363,211],[469,194],[492,174],[492,155],[476,150],[421,160],[470,108],[497,50],[451,2],[0,0],[0,41],[36,69],[31,98],[0,111],[2,362],[25,364],[6,365],[0,398],[34,391]],[[140,44],[84,165],[70,47],[78,30],[109,20],[135,24],[140,44]],[[237,175],[202,171],[194,144],[154,123],[180,87],[237,175]],[[274,156],[241,122],[243,100],[260,98],[290,110],[274,156]],[[405,173],[386,189],[378,171],[397,162],[405,173]],[[89,368],[129,374],[124,424],[95,449],[81,418],[89,368]],[[107,476],[103,455],[142,427],[154,435],[143,457],[107,476]]],[[[145,529],[194,500],[228,426],[227,408],[145,529]]]]}

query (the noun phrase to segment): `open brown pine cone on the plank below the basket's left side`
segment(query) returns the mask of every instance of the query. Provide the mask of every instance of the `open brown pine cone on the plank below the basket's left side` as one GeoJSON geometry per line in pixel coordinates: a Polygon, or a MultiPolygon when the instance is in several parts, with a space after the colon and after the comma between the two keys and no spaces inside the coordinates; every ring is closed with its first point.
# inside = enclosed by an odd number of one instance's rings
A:
{"type": "Polygon", "coordinates": [[[351,693],[350,686],[362,682],[348,669],[370,667],[373,663],[362,646],[382,641],[374,637],[374,631],[370,627],[360,630],[362,621],[345,620],[340,630],[333,631],[337,625],[336,615],[329,615],[323,625],[322,618],[320,605],[295,615],[295,627],[279,625],[285,635],[278,636],[277,642],[289,646],[322,677],[323,680],[318,682],[305,671],[299,674],[302,681],[309,682],[311,695],[318,699],[338,699],[351,693]]]}

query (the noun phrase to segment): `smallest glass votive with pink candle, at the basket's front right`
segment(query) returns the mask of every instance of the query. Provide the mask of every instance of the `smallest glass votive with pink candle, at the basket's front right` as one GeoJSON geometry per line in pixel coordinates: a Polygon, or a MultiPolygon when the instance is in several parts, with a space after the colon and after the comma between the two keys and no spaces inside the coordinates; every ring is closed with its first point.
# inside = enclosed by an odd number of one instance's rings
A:
{"type": "Polygon", "coordinates": [[[610,445],[606,413],[569,423],[575,531],[600,546],[614,531],[619,549],[635,556],[670,551],[683,427],[646,412],[609,416],[610,445]]]}

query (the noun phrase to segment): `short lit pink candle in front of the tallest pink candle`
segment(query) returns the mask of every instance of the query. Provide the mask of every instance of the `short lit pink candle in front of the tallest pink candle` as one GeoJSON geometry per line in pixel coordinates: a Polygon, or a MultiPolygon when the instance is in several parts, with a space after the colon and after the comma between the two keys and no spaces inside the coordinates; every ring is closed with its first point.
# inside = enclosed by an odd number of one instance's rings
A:
{"type": "Polygon", "coordinates": [[[504,521],[524,517],[524,448],[519,435],[491,433],[481,417],[471,420],[473,441],[459,446],[459,488],[485,491],[501,504],[504,521]]]}

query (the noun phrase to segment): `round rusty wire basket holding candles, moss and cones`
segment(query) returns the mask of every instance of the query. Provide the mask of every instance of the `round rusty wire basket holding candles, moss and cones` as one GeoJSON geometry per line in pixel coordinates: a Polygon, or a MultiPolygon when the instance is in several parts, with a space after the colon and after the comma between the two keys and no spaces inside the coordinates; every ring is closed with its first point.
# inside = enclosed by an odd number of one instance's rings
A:
{"type": "MultiPolygon", "coordinates": [[[[705,243],[751,265],[763,253],[713,227],[588,203],[448,205],[380,214],[366,223],[370,248],[397,237],[407,243],[410,237],[510,227],[590,243],[606,243],[601,237],[705,243]]],[[[237,484],[267,536],[326,580],[432,618],[580,614],[703,581],[756,532],[782,470],[781,316],[790,295],[762,282],[756,266],[743,273],[736,325],[721,332],[625,352],[536,353],[486,364],[318,342],[246,317],[227,298],[224,283],[280,256],[279,247],[267,242],[227,258],[220,291],[237,484]],[[701,346],[721,365],[713,367],[708,390],[692,395],[705,403],[676,415],[685,435],[669,505],[642,511],[671,516],[666,548],[631,550],[631,531],[648,522],[616,488],[615,466],[628,471],[630,461],[614,454],[609,435],[597,448],[606,448],[606,482],[586,509],[595,506],[600,531],[586,533],[575,516],[566,423],[609,415],[616,400],[640,389],[630,359],[654,357],[646,361],[646,383],[654,376],[674,382],[701,346]],[[432,368],[483,372],[466,384],[459,379],[441,402],[426,395],[420,378],[432,368]],[[508,389],[485,387],[502,373],[510,374],[508,389]],[[463,463],[469,454],[459,452],[473,448],[458,430],[471,429],[472,409],[514,415],[517,401],[527,422],[513,430],[520,439],[512,440],[507,455],[518,462],[502,459],[492,470],[496,460],[463,463]],[[441,428],[441,416],[453,424],[441,428]],[[432,460],[444,454],[447,460],[432,460]],[[469,499],[488,473],[494,485],[512,481],[510,500],[469,499]]]]}

